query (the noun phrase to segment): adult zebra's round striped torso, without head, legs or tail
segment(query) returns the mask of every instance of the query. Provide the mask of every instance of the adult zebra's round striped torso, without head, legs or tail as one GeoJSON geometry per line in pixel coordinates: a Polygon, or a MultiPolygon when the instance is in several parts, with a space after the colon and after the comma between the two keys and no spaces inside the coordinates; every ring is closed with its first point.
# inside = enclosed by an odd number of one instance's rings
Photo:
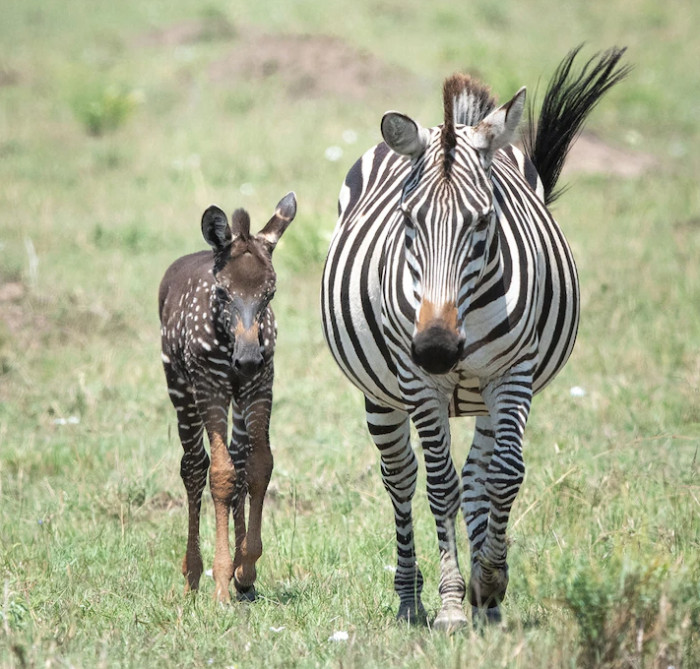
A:
{"type": "Polygon", "coordinates": [[[480,380],[503,374],[519,357],[538,356],[534,392],[563,367],[578,324],[576,268],[559,226],[521,171],[525,160],[513,146],[495,157],[498,218],[488,280],[466,314],[465,357],[438,377],[410,361],[416,307],[399,207],[410,162],[382,143],[351,168],[324,272],[324,328],[341,369],[372,400],[410,410],[416,400],[400,390],[401,368],[448,392],[450,416],[480,415],[487,413],[480,380]]]}

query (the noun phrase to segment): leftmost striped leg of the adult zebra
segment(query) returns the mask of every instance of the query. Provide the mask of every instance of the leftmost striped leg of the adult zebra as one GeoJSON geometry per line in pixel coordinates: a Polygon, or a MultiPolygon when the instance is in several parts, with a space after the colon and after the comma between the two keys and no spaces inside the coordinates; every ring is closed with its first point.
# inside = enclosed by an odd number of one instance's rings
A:
{"type": "Polygon", "coordinates": [[[416,491],[418,460],[411,448],[408,414],[379,406],[365,398],[367,427],[381,456],[382,481],[394,506],[397,618],[411,623],[425,620],[421,602],[423,575],[416,563],[411,501],[416,491]]]}

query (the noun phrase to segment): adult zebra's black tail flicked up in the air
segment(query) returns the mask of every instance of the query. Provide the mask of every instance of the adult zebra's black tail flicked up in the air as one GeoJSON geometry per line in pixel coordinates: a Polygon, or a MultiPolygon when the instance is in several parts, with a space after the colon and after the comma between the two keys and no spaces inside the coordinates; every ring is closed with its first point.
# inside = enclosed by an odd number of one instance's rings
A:
{"type": "Polygon", "coordinates": [[[523,146],[542,179],[546,204],[556,200],[564,190],[554,188],[586,117],[603,95],[632,69],[631,65],[619,65],[627,48],[612,47],[595,54],[578,76],[573,75],[573,62],[582,47],[580,44],[569,51],[552,75],[536,127],[532,102],[528,108],[529,128],[523,134],[523,146]]]}

